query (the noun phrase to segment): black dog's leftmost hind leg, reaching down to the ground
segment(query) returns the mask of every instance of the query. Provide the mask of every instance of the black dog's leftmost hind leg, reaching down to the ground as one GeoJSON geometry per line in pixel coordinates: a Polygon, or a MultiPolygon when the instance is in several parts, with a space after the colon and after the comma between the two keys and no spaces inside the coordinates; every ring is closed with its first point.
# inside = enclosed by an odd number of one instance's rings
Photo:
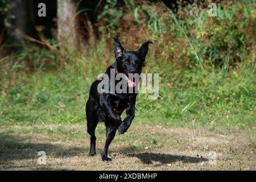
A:
{"type": "Polygon", "coordinates": [[[96,155],[96,137],[95,130],[98,124],[98,117],[96,111],[90,108],[89,104],[86,104],[86,120],[87,120],[87,132],[90,135],[90,152],[89,155],[96,155]]]}

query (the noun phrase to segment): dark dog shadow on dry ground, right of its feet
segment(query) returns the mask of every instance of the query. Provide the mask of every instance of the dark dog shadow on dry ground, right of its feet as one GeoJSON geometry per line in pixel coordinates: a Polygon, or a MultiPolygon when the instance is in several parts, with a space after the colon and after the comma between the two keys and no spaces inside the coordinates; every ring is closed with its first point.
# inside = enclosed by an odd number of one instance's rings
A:
{"type": "Polygon", "coordinates": [[[164,164],[171,164],[175,162],[183,163],[201,163],[205,162],[208,159],[205,158],[196,158],[192,156],[181,156],[181,155],[171,155],[171,154],[156,154],[151,152],[143,152],[138,154],[128,154],[127,156],[136,157],[141,160],[144,164],[152,164],[153,162],[160,163],[158,166],[164,164]]]}

